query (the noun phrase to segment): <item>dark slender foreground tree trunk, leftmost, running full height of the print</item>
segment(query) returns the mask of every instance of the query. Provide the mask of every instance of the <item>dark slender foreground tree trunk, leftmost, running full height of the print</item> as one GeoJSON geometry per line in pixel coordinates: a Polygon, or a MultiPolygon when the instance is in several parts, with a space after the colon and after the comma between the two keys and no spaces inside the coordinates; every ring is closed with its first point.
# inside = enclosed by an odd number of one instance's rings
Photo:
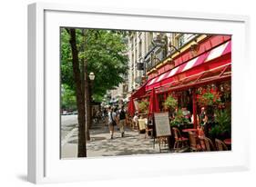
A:
{"type": "Polygon", "coordinates": [[[77,156],[86,157],[87,156],[87,139],[86,139],[86,125],[85,125],[85,99],[82,91],[82,81],[81,81],[80,69],[79,69],[76,30],[67,29],[67,32],[68,34],[70,34],[69,43],[71,45],[71,51],[72,51],[73,76],[76,84],[75,87],[76,87],[76,96],[77,96],[77,112],[78,112],[77,156]]]}

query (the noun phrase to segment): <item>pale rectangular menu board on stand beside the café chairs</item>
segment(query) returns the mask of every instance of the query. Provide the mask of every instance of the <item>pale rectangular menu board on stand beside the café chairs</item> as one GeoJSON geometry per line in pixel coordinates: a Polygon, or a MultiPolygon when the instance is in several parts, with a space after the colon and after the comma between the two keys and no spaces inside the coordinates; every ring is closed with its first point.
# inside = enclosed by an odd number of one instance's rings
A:
{"type": "Polygon", "coordinates": [[[156,136],[170,136],[169,113],[154,113],[156,136]]]}

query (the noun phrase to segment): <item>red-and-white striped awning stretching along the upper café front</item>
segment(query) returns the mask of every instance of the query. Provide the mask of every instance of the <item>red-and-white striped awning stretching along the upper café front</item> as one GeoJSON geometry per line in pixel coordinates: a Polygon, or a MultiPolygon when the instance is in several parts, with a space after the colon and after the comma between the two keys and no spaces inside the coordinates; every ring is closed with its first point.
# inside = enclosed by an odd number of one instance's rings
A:
{"type": "Polygon", "coordinates": [[[231,41],[181,64],[169,72],[160,74],[148,81],[146,91],[161,86],[166,87],[179,84],[189,79],[197,79],[201,74],[208,72],[220,72],[226,66],[231,65],[231,41]]]}

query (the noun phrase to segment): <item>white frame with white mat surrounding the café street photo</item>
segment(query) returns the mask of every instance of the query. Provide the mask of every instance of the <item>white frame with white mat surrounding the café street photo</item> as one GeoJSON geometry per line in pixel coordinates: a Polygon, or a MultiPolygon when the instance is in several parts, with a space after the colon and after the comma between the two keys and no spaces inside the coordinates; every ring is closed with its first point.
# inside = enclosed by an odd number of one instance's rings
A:
{"type": "Polygon", "coordinates": [[[247,111],[239,110],[249,103],[246,99],[249,86],[246,68],[251,65],[247,59],[248,28],[249,17],[245,15],[28,5],[28,181],[73,182],[248,170],[249,133],[240,124],[249,125],[250,121],[247,111]],[[232,107],[232,151],[60,160],[59,32],[56,32],[59,26],[232,34],[232,103],[238,106],[232,107]],[[115,162],[111,162],[113,159],[115,162]],[[152,164],[141,167],[145,161],[152,164]],[[124,163],[122,167],[120,163],[124,163]]]}

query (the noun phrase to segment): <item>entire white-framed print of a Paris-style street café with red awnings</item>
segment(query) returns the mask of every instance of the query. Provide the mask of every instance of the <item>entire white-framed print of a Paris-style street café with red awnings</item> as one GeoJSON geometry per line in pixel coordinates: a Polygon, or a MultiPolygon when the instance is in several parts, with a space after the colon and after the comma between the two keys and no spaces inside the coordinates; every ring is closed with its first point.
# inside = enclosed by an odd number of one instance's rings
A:
{"type": "Polygon", "coordinates": [[[248,20],[28,5],[28,181],[247,170],[248,20]]]}

